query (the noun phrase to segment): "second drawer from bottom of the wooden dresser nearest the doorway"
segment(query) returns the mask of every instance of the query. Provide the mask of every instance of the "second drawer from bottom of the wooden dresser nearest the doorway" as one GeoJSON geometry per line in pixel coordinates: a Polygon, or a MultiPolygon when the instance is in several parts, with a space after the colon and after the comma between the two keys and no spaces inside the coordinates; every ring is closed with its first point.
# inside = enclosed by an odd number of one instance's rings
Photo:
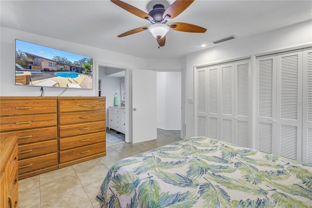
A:
{"type": "Polygon", "coordinates": [[[105,142],[105,137],[106,133],[105,131],[102,131],[93,134],[86,134],[82,136],[59,139],[59,150],[65,150],[105,142]]]}

